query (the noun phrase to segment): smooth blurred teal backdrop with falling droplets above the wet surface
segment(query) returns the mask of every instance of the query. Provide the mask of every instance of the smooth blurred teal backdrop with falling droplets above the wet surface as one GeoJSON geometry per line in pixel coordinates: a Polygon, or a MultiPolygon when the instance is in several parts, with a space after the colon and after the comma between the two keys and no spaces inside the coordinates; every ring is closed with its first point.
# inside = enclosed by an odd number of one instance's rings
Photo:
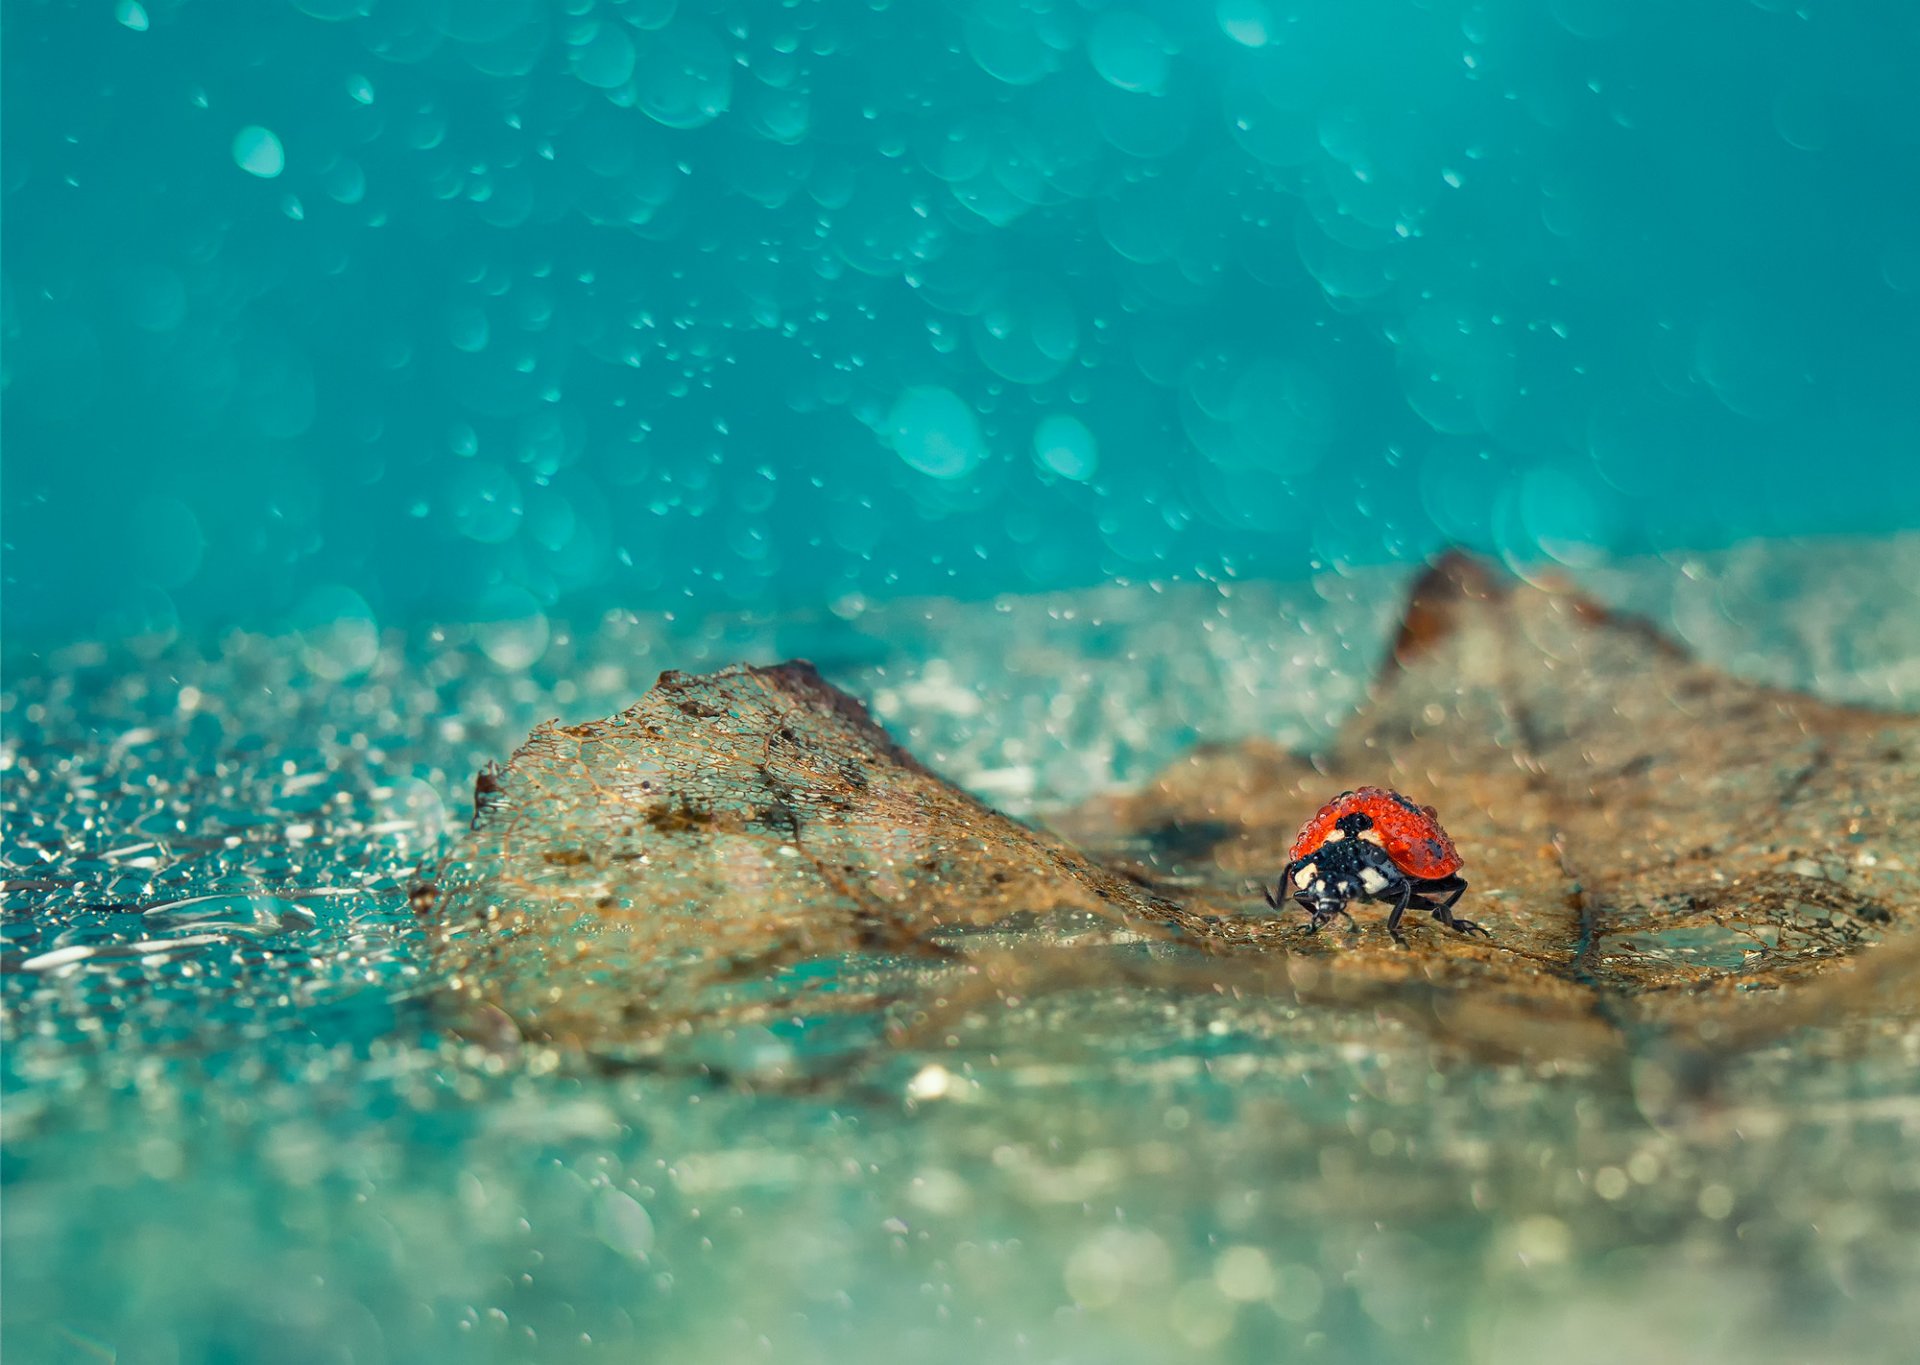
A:
{"type": "Polygon", "coordinates": [[[12,0],[10,634],[1920,524],[1920,10],[12,0]]]}

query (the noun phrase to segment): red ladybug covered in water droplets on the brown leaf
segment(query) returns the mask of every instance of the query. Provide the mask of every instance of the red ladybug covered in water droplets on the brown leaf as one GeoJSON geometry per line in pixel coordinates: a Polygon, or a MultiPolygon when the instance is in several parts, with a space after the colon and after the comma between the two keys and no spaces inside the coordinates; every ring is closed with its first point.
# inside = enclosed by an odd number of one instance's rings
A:
{"type": "MultiPolygon", "coordinates": [[[[1453,916],[1453,902],[1467,891],[1459,850],[1440,827],[1432,806],[1415,806],[1398,791],[1359,787],[1342,791],[1306,822],[1286,854],[1281,885],[1265,891],[1275,910],[1292,897],[1313,916],[1317,933],[1334,916],[1354,916],[1350,900],[1392,900],[1386,931],[1400,939],[1400,916],[1432,910],[1434,920],[1459,933],[1486,933],[1473,920],[1453,916]]],[[[1359,929],[1357,923],[1354,923],[1359,929]]]]}

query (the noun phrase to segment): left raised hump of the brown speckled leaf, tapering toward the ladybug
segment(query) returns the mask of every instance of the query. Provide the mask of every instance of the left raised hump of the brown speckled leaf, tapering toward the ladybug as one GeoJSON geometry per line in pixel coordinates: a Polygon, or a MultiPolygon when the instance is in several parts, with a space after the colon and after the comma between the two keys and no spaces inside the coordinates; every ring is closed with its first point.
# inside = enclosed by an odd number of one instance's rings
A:
{"type": "Polygon", "coordinates": [[[874,1004],[872,971],[1048,912],[1171,912],[922,768],[810,664],[662,674],[486,774],[436,916],[455,989],[609,1046],[874,1004]]]}

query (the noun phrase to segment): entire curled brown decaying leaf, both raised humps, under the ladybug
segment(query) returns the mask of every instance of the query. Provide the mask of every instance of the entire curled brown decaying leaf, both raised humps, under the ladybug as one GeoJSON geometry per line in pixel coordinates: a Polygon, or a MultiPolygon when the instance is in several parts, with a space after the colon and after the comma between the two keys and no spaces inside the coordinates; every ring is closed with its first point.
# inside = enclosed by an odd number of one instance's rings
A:
{"type": "Polygon", "coordinates": [[[1152,987],[1365,1004],[1480,1054],[1699,1058],[1920,983],[1920,720],[1738,682],[1463,557],[1415,586],[1329,753],[1208,747],[1054,827],[927,772],[806,664],[664,674],[484,774],[422,906],[457,996],[607,1056],[1152,987]],[[1302,822],[1367,783],[1440,810],[1490,943],[1261,904],[1302,822]]]}

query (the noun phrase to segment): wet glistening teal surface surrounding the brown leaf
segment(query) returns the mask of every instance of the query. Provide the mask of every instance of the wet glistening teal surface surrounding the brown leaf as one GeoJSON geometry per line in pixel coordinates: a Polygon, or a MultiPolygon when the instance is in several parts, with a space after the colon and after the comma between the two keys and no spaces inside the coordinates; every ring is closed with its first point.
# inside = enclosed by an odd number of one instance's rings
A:
{"type": "MultiPolygon", "coordinates": [[[[1914,543],[1596,580],[1741,672],[1912,708],[1889,563],[1914,543]]],[[[1060,808],[1194,739],[1323,737],[1402,591],[611,616],[524,664],[484,630],[15,657],[10,1357],[1899,1359],[1907,1023],[1688,1108],[1231,993],[1043,996],[799,1092],[597,1075],[424,1000],[407,885],[536,718],[810,653],[937,768],[1060,808]]]]}

